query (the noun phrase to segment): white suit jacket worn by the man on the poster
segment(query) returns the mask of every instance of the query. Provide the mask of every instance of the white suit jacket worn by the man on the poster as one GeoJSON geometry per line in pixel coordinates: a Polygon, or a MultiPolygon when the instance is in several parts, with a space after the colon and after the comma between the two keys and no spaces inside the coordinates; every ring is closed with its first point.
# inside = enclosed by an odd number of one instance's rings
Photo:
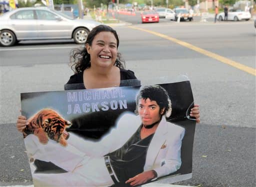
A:
{"type": "MultiPolygon", "coordinates": [[[[52,140],[43,145],[37,137],[29,135],[24,139],[28,157],[52,162],[71,172],[85,155],[102,157],[119,149],[135,133],[141,120],[139,116],[125,112],[116,124],[98,142],[87,141],[70,133],[66,147],[52,140]]],[[[167,122],[163,116],[149,144],[144,171],[154,170],[157,178],[177,171],[181,166],[180,148],[184,132],[184,128],[167,122]]]]}

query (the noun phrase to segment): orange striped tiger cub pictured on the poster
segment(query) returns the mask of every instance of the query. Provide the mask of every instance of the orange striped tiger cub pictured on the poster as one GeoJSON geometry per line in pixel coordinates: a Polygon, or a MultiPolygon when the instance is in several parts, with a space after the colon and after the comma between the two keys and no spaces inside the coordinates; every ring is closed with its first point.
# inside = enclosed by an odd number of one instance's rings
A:
{"type": "Polygon", "coordinates": [[[33,134],[38,137],[39,142],[47,144],[48,138],[59,142],[62,146],[67,146],[66,128],[72,124],[64,120],[57,112],[52,109],[42,109],[28,120],[28,125],[23,130],[23,137],[33,134]]]}

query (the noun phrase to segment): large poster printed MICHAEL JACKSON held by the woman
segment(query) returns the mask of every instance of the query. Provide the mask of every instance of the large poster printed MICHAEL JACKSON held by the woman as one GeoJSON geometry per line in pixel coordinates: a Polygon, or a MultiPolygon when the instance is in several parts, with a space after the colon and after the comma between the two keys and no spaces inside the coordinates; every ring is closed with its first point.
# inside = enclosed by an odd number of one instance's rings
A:
{"type": "Polygon", "coordinates": [[[189,81],[21,93],[35,187],[170,184],[191,178],[189,81]]]}

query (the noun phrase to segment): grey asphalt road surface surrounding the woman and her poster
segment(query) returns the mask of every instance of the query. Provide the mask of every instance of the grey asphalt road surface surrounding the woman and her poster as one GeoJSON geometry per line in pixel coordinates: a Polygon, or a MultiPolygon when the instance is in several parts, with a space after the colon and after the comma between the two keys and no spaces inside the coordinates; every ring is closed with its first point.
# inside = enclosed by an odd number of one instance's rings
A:
{"type": "MultiPolygon", "coordinates": [[[[162,83],[162,77],[168,81],[186,74],[195,103],[200,104],[193,177],[178,184],[254,187],[256,89],[255,75],[246,71],[255,71],[253,22],[165,21],[132,26],[115,27],[126,68],[142,83],[162,83]],[[237,69],[234,63],[226,64],[227,60],[244,66],[237,69]]],[[[14,125],[19,93],[62,90],[72,74],[67,64],[68,52],[74,47],[79,45],[71,41],[0,47],[1,186],[31,184],[22,137],[14,125]]]]}

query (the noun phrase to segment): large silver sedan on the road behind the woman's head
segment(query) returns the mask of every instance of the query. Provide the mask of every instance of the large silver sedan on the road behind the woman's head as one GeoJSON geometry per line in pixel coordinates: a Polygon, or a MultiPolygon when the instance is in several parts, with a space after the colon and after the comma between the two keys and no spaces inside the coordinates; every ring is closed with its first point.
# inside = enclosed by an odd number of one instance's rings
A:
{"type": "Polygon", "coordinates": [[[20,40],[74,39],[85,42],[88,32],[101,24],[73,19],[45,7],[17,8],[0,16],[0,45],[11,46],[20,40]]]}

